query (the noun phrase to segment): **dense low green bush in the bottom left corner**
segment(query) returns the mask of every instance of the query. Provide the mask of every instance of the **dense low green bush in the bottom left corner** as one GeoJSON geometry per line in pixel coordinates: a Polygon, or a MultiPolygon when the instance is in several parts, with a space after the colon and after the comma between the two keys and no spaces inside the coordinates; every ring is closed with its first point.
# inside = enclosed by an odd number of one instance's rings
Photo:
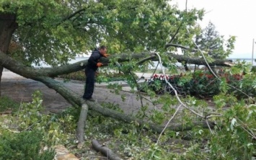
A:
{"type": "Polygon", "coordinates": [[[40,153],[43,135],[38,131],[22,133],[4,133],[0,135],[0,159],[37,159],[52,160],[54,151],[40,153]]]}

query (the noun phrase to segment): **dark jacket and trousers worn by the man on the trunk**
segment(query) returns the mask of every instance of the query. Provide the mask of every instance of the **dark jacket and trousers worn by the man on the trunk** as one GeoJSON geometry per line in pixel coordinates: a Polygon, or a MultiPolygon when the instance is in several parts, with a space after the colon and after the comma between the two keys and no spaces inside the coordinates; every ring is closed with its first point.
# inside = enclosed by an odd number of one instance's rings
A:
{"type": "Polygon", "coordinates": [[[85,68],[85,75],[87,76],[84,89],[84,99],[91,99],[94,91],[95,72],[97,71],[97,63],[102,55],[97,48],[92,51],[92,55],[88,59],[87,67],[85,68]]]}

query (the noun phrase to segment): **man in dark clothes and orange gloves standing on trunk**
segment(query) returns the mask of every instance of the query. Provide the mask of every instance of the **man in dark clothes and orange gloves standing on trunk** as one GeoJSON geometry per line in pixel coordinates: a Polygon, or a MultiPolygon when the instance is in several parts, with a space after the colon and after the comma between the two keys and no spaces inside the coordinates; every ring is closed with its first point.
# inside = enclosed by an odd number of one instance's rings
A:
{"type": "Polygon", "coordinates": [[[95,100],[92,99],[92,94],[94,92],[95,73],[97,68],[103,65],[99,62],[100,58],[107,58],[107,56],[107,48],[104,45],[102,45],[100,48],[95,48],[94,51],[92,51],[92,55],[89,57],[87,67],[85,68],[85,75],[87,76],[87,79],[85,82],[83,99],[95,102],[95,100]]]}

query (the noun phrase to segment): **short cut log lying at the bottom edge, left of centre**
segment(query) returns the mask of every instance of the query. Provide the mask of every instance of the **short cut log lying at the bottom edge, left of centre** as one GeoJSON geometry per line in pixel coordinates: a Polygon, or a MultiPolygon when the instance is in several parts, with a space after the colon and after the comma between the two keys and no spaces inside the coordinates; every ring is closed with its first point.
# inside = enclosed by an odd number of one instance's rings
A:
{"type": "Polygon", "coordinates": [[[117,156],[116,154],[114,154],[114,152],[112,152],[110,150],[110,148],[107,148],[106,146],[101,145],[98,141],[96,140],[92,140],[92,147],[96,150],[96,151],[100,151],[100,153],[104,154],[105,156],[107,156],[107,159],[110,160],[121,160],[121,158],[119,156],[117,156]]]}

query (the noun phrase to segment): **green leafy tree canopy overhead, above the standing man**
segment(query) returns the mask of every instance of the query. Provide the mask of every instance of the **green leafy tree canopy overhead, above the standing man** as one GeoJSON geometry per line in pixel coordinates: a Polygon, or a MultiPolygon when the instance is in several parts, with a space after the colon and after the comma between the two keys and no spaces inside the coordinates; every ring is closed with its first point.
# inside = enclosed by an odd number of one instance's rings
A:
{"type": "MultiPolygon", "coordinates": [[[[201,19],[203,10],[182,12],[168,1],[9,1],[1,0],[1,14],[14,15],[12,40],[22,46],[13,53],[26,63],[63,63],[98,44],[110,53],[161,50],[175,34],[201,19]]],[[[177,43],[190,40],[180,32],[177,43]]],[[[185,43],[182,43],[185,44],[185,43]]]]}

